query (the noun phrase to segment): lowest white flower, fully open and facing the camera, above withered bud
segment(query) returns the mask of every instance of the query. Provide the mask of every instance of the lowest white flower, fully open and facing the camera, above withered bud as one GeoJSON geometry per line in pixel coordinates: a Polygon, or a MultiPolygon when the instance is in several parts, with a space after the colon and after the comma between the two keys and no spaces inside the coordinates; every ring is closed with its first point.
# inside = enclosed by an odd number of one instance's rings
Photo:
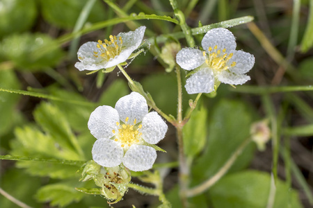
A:
{"type": "Polygon", "coordinates": [[[131,171],[146,171],[157,158],[150,144],[164,138],[168,125],[157,112],[148,113],[145,98],[132,92],[120,98],[115,109],[97,107],[90,114],[88,128],[97,139],[92,150],[97,164],[113,167],[123,163],[131,171]]]}

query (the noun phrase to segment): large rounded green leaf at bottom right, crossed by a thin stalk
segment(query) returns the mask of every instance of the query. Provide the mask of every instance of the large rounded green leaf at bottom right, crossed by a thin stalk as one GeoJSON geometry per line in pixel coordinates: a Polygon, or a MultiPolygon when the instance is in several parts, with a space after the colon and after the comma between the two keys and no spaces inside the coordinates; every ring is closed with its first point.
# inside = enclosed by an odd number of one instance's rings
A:
{"type": "MultiPolygon", "coordinates": [[[[278,180],[275,183],[276,193],[273,208],[303,207],[294,190],[289,190],[286,183],[278,180]]],[[[271,186],[271,176],[259,171],[232,173],[223,177],[209,193],[215,208],[266,207],[271,186]]]]}

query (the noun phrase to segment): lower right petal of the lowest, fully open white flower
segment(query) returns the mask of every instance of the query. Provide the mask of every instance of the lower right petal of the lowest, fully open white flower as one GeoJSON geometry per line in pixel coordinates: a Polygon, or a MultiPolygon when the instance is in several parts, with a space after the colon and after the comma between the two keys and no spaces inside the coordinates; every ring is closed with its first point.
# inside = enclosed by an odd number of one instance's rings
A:
{"type": "Polygon", "coordinates": [[[123,164],[131,171],[147,171],[152,168],[157,151],[150,146],[133,144],[123,157],[123,164]]]}

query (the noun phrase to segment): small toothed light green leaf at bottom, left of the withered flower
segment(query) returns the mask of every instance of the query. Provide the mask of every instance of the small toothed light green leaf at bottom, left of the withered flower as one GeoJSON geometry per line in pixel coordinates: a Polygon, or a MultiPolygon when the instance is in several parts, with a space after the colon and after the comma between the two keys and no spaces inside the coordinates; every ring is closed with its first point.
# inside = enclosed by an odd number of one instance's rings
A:
{"type": "Polygon", "coordinates": [[[74,188],[73,182],[60,182],[42,187],[35,198],[39,202],[50,202],[51,206],[65,207],[72,202],[79,202],[84,194],[74,188]]]}

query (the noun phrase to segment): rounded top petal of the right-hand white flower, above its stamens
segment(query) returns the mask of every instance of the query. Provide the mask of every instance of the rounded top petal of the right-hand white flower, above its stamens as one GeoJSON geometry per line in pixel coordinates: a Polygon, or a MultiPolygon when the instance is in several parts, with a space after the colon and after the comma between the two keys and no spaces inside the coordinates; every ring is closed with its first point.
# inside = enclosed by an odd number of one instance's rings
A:
{"type": "Polygon", "coordinates": [[[223,49],[226,49],[225,53],[236,49],[234,35],[225,28],[211,29],[211,31],[204,35],[201,44],[204,51],[207,51],[209,47],[214,49],[214,46],[218,46],[216,50],[223,51],[223,49]]]}

